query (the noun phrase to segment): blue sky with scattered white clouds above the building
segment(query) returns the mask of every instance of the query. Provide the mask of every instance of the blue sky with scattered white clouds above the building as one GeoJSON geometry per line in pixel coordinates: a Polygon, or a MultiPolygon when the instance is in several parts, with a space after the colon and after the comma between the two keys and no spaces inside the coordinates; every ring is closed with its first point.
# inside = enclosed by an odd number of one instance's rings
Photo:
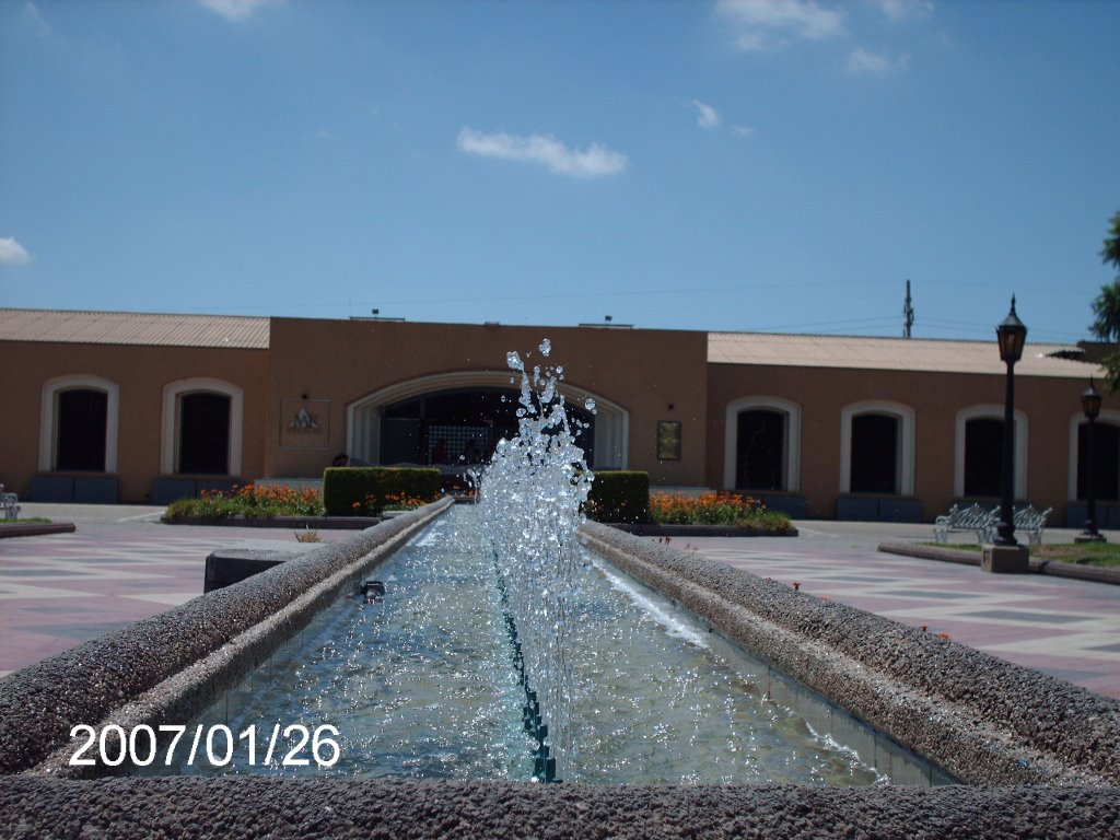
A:
{"type": "Polygon", "coordinates": [[[1120,2],[0,0],[0,305],[1089,337],[1120,2]]]}

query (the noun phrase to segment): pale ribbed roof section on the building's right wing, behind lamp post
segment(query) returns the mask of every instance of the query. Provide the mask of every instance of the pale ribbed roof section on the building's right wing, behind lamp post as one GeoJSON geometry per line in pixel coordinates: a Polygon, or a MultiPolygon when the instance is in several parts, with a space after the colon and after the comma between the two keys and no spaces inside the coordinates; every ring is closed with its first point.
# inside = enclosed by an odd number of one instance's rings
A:
{"type": "MultiPolygon", "coordinates": [[[[1077,352],[1077,347],[1066,345],[1032,344],[1028,336],[1026,351],[1023,360],[1015,366],[1015,372],[1024,376],[1062,379],[1100,375],[1096,365],[1054,355],[1077,352]]],[[[708,362],[790,367],[846,367],[859,371],[983,374],[1002,374],[1007,371],[999,358],[995,335],[990,342],[959,342],[937,338],[709,333],[708,362]]]]}

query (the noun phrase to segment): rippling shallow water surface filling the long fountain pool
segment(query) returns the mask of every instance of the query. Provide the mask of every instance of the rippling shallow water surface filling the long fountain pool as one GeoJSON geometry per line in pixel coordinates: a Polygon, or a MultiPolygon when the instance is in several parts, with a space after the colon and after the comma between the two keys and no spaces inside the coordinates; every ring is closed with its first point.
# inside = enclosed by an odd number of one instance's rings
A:
{"type": "MultiPolygon", "coordinates": [[[[953,781],[606,561],[579,567],[566,783],[953,781]]],[[[262,763],[240,739],[221,766],[146,772],[554,781],[478,511],[448,511],[370,577],[382,598],[339,599],[188,726],[330,726],[337,763],[262,763]]]]}

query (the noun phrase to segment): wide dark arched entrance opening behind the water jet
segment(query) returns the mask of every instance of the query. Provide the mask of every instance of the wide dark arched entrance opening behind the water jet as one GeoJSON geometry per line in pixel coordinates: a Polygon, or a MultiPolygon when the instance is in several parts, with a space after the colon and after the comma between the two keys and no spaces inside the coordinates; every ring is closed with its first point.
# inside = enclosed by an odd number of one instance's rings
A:
{"type": "MultiPolygon", "coordinates": [[[[347,409],[348,454],[354,461],[384,466],[485,460],[501,438],[517,430],[520,392],[510,380],[502,372],[438,374],[370,394],[347,409]]],[[[576,441],[588,466],[625,468],[627,412],[568,383],[558,390],[569,420],[586,427],[576,441]],[[585,408],[588,400],[595,401],[595,413],[585,408]]]]}

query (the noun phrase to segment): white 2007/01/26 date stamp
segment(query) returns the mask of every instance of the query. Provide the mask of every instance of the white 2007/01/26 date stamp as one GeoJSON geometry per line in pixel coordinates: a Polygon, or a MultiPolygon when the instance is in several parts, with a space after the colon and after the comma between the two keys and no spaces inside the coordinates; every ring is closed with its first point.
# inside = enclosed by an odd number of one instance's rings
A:
{"type": "MultiPolygon", "coordinates": [[[[109,767],[119,767],[129,758],[134,766],[147,767],[155,764],[159,757],[161,753],[160,741],[170,738],[167,744],[167,756],[164,759],[164,766],[170,767],[175,760],[176,749],[184,740],[184,735],[187,735],[187,727],[181,725],[152,728],[147,724],[141,724],[125,732],[123,727],[110,724],[99,734],[88,724],[78,724],[71,729],[71,738],[84,737],[85,740],[71,756],[69,765],[72,767],[95,766],[99,764],[97,758],[86,757],[86,754],[92,750],[94,756],[100,756],[100,763],[109,767]]],[[[312,758],[319,767],[333,767],[342,757],[338,741],[335,740],[337,737],[338,730],[329,725],[316,727],[312,731],[300,724],[291,724],[283,728],[276,724],[268,738],[264,755],[259,756],[258,746],[264,747],[265,743],[262,740],[258,745],[255,726],[245,727],[234,737],[233,730],[225,725],[217,724],[204,727],[199,724],[195,727],[193,737],[188,735],[183,746],[186,748],[187,744],[190,745],[186,758],[187,766],[205,758],[211,766],[225,767],[233,760],[237,743],[244,741],[251,767],[258,764],[269,766],[274,762],[281,767],[306,767],[311,764],[312,758]],[[205,737],[203,737],[204,731],[206,732],[205,737]],[[311,745],[311,758],[300,755],[308,743],[311,745]],[[288,748],[289,746],[290,748],[288,748]],[[284,753],[286,748],[288,748],[287,753],[284,753]],[[263,760],[258,762],[259,757],[262,757],[263,760]]]]}

